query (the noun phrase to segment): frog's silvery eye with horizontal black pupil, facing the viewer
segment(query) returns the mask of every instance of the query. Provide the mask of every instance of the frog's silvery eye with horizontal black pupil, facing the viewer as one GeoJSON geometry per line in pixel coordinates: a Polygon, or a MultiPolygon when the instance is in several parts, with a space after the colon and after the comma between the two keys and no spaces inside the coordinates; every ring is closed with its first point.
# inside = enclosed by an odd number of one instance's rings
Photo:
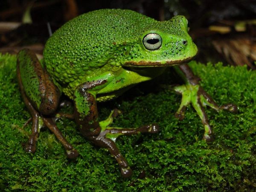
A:
{"type": "Polygon", "coordinates": [[[149,33],[143,38],[143,45],[148,50],[157,50],[162,45],[162,38],[157,33],[149,33]]]}

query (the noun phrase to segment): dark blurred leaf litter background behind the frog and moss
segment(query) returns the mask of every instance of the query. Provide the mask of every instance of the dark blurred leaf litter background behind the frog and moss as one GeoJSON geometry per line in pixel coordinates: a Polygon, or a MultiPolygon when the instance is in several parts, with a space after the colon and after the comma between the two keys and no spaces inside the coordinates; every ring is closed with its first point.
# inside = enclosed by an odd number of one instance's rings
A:
{"type": "Polygon", "coordinates": [[[255,0],[1,0],[0,52],[27,47],[42,57],[49,38],[68,20],[96,9],[131,9],[157,20],[185,15],[198,46],[195,60],[256,69],[255,0]]]}

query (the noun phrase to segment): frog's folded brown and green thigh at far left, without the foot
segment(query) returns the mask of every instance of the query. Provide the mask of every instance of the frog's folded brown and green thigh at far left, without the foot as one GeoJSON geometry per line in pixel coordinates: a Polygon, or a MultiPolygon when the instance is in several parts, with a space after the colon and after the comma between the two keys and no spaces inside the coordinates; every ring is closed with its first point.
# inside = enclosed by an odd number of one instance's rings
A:
{"type": "Polygon", "coordinates": [[[50,80],[35,53],[29,49],[21,50],[17,55],[17,70],[20,72],[24,92],[32,106],[45,115],[55,112],[60,91],[50,80]]]}

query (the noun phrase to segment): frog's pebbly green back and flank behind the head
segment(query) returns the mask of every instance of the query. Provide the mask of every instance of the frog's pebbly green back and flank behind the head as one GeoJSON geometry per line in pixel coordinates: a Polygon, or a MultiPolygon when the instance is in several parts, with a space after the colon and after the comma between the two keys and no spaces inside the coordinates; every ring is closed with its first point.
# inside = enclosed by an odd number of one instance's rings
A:
{"type": "Polygon", "coordinates": [[[47,41],[44,50],[47,70],[57,81],[69,81],[79,73],[86,75],[84,72],[104,65],[116,45],[137,41],[138,32],[154,21],[122,9],[101,9],[80,15],[47,41]],[[65,73],[60,74],[62,71],[65,73]]]}

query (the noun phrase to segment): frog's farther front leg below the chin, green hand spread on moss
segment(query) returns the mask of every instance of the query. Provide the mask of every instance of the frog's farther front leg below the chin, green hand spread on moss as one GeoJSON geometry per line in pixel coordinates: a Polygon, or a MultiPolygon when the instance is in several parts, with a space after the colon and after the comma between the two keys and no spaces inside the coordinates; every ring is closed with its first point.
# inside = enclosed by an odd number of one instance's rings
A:
{"type": "Polygon", "coordinates": [[[211,141],[213,139],[213,131],[209,125],[204,106],[208,105],[216,111],[224,109],[230,112],[236,112],[237,106],[233,104],[218,106],[218,104],[214,102],[209,94],[206,93],[202,87],[200,87],[198,77],[193,74],[188,65],[180,65],[175,67],[175,70],[186,82],[184,85],[175,87],[175,91],[182,94],[181,104],[178,111],[175,113],[175,116],[182,120],[184,118],[186,106],[189,105],[189,103],[192,103],[192,106],[197,111],[204,125],[203,139],[206,141],[211,141]]]}

